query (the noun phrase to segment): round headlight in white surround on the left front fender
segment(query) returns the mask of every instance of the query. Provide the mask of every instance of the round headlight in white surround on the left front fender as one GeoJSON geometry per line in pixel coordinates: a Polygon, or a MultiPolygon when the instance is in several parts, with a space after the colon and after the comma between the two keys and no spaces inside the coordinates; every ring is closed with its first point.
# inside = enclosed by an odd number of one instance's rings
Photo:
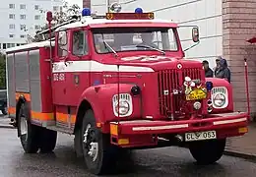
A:
{"type": "Polygon", "coordinates": [[[127,117],[132,114],[132,96],[129,93],[119,94],[119,110],[118,110],[118,94],[115,94],[112,98],[113,112],[117,117],[118,113],[120,117],[127,117]]]}

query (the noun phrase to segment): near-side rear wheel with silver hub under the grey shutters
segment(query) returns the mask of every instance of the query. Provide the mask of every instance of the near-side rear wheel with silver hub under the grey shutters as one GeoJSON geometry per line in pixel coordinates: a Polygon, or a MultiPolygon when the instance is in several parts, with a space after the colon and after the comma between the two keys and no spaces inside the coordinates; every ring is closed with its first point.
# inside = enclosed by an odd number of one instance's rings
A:
{"type": "Polygon", "coordinates": [[[18,134],[20,135],[21,144],[27,153],[36,153],[39,143],[39,132],[35,125],[30,121],[30,108],[28,103],[21,105],[18,116],[18,134]]]}

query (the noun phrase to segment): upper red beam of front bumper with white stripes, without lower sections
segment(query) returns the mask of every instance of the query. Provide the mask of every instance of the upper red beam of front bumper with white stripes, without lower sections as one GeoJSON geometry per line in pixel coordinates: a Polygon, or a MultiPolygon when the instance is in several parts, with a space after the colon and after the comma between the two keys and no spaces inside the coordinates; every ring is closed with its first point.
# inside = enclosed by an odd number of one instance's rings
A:
{"type": "Polygon", "coordinates": [[[180,134],[247,127],[247,113],[214,114],[211,118],[184,121],[133,120],[110,122],[111,135],[180,134]]]}

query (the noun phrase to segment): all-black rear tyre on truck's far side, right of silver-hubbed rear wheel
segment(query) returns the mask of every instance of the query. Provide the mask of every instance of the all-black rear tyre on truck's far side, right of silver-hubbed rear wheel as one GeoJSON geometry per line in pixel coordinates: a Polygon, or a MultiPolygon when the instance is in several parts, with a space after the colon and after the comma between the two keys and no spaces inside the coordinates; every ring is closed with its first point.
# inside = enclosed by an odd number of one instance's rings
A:
{"type": "Polygon", "coordinates": [[[40,152],[42,153],[48,153],[51,152],[57,142],[57,132],[48,130],[45,128],[41,128],[40,130],[40,152]]]}

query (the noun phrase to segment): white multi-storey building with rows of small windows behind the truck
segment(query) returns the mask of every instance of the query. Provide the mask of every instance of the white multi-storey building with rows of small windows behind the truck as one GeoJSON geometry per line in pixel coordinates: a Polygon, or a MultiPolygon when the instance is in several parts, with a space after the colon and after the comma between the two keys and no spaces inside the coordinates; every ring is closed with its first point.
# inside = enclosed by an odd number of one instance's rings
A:
{"type": "Polygon", "coordinates": [[[0,51],[27,43],[46,22],[46,11],[59,11],[61,0],[9,0],[0,7],[0,51]]]}

